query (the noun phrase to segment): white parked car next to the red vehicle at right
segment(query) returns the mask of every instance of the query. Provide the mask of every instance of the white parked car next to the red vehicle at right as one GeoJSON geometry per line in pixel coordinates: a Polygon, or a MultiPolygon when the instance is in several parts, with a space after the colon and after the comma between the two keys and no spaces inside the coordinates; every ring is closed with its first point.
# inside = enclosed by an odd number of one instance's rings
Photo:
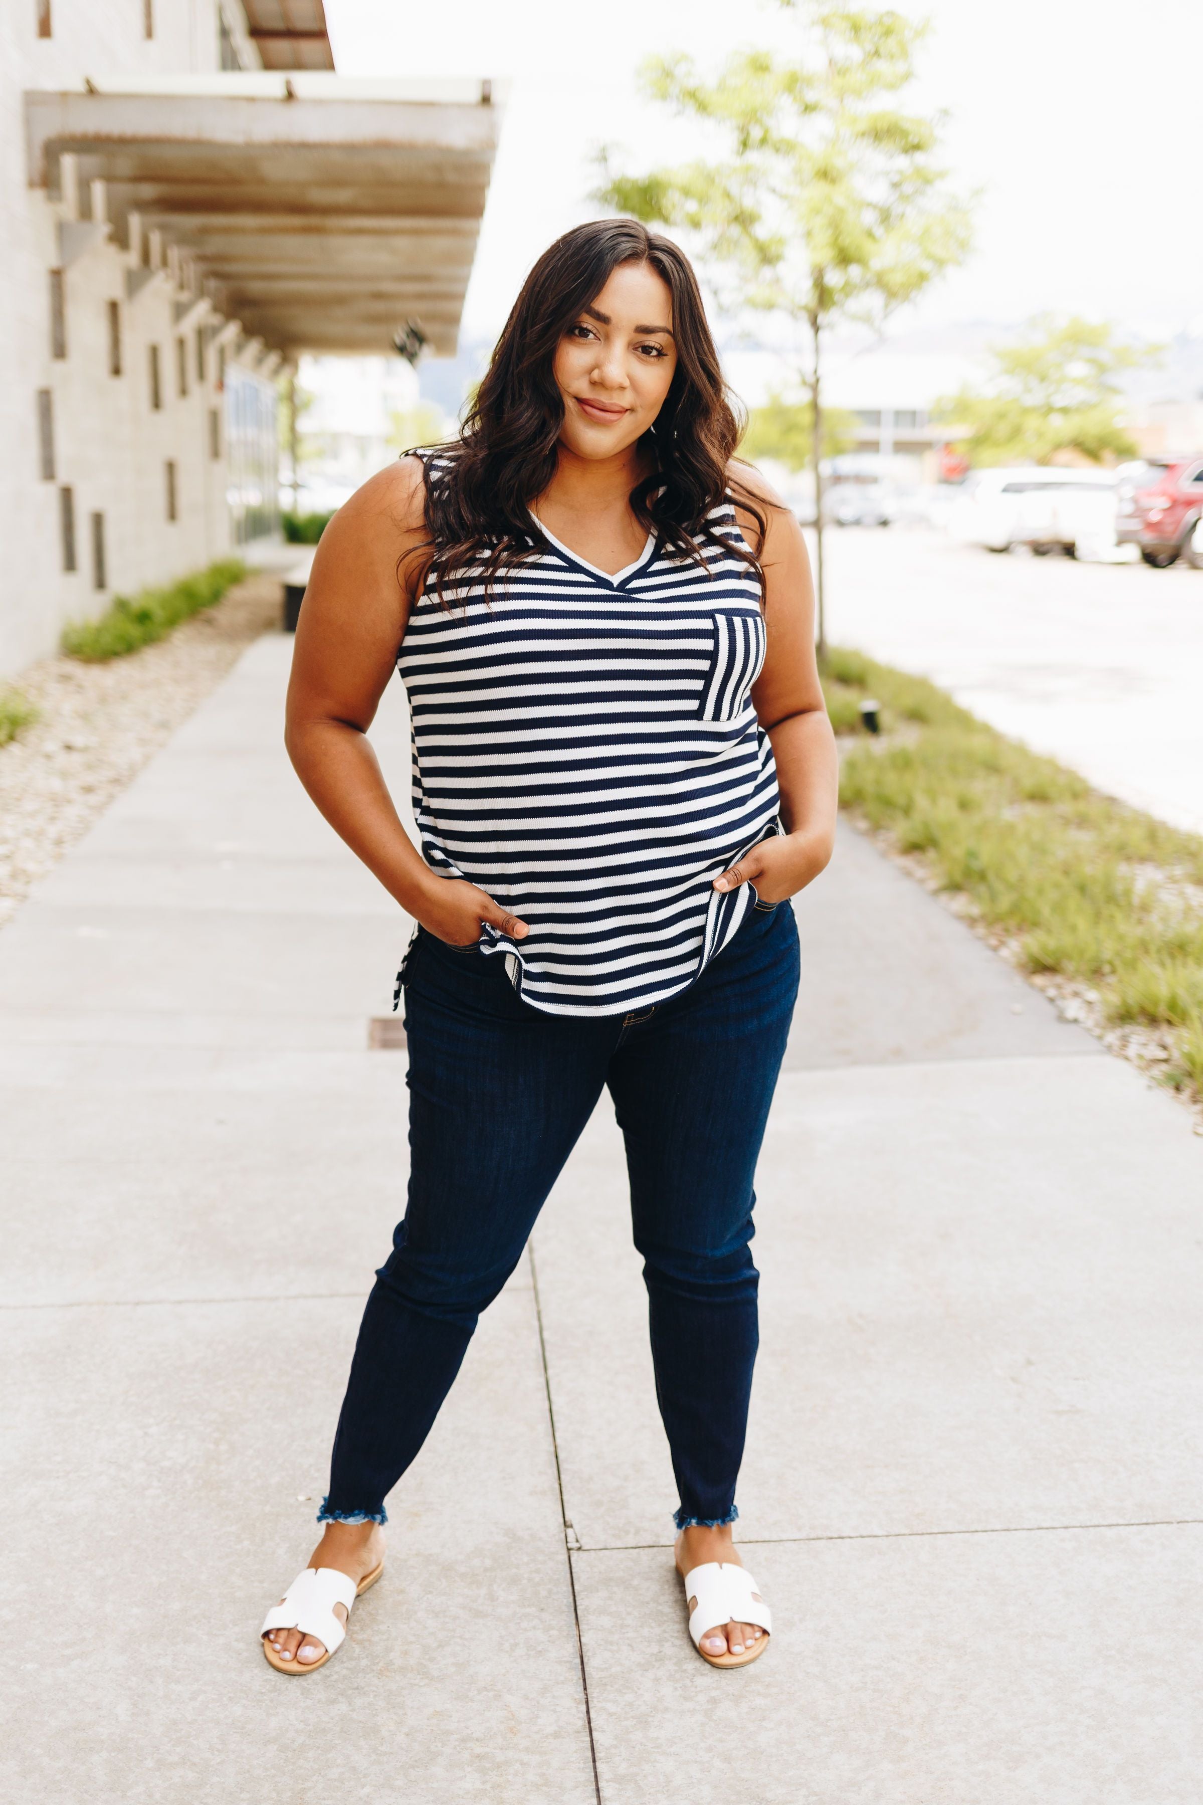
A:
{"type": "Polygon", "coordinates": [[[1030,545],[1037,556],[1073,558],[1079,540],[1115,542],[1115,477],[1046,464],[974,471],[949,511],[949,531],[992,552],[1030,545]]]}

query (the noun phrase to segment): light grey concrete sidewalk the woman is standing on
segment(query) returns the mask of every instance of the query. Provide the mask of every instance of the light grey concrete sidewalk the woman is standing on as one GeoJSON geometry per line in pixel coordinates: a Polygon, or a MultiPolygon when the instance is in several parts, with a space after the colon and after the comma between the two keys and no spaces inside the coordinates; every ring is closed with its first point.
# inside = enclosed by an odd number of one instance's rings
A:
{"type": "MultiPolygon", "coordinates": [[[[1194,1805],[1203,1141],[842,836],[759,1175],[743,1547],[714,1673],[606,1106],[294,1688],[404,1202],[406,926],[280,749],[260,641],[0,935],[4,1796],[1194,1805]]],[[[391,693],[379,731],[406,789],[391,693]]]]}

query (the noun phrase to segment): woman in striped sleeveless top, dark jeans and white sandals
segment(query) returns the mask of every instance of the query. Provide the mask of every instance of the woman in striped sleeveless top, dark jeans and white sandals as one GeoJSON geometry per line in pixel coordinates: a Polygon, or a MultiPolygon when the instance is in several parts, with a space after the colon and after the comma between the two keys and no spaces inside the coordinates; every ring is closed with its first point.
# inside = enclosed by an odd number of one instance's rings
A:
{"type": "Polygon", "coordinates": [[[287,744],[418,924],[413,1157],[323,1538],[263,1624],[281,1673],[328,1661],[379,1578],[384,1496],[606,1087],[689,1630],[714,1666],[767,1648],[732,1545],[752,1175],[797,991],[779,904],[828,863],[837,773],[803,538],[736,442],[689,262],[599,220],[532,269],[460,440],[373,477],[317,549],[287,744]],[[366,740],[393,662],[422,856],[366,740]]]}

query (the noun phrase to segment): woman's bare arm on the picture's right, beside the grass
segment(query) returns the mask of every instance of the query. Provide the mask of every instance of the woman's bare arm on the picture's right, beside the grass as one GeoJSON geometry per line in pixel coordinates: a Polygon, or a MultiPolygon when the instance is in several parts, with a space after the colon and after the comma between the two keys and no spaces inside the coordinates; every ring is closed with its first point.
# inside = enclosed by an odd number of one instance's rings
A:
{"type": "MultiPolygon", "coordinates": [[[[763,902],[783,902],[824,870],[835,843],[839,760],[815,662],[815,597],[803,529],[759,471],[736,464],[732,477],[754,491],[767,514],[759,558],[765,570],[768,652],[752,702],[772,744],[785,836],[767,839],[721,877],[716,890],[748,879],[763,902]]],[[[739,525],[756,545],[754,520],[739,525]]]]}

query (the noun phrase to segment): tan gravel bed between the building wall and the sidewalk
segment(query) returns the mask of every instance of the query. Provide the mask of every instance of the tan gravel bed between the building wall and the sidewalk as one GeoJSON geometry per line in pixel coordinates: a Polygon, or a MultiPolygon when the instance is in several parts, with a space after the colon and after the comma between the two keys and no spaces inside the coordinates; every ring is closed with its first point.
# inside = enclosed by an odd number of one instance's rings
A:
{"type": "Polygon", "coordinates": [[[142,652],[43,659],[14,688],[38,709],[0,745],[0,924],[87,834],[238,661],[280,628],[280,581],[251,576],[142,652]]]}

